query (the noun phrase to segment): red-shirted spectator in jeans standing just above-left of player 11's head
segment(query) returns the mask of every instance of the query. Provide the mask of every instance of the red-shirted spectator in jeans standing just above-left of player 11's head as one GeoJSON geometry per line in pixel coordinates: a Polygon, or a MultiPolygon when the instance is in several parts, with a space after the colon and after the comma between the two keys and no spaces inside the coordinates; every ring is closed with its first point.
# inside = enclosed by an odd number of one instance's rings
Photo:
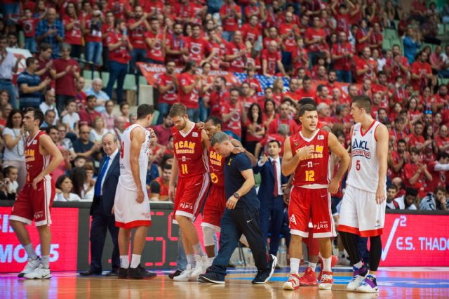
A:
{"type": "Polygon", "coordinates": [[[157,78],[156,86],[159,91],[157,109],[159,110],[158,124],[161,124],[163,115],[168,113],[170,105],[179,102],[178,83],[175,76],[175,62],[166,63],[166,72],[157,78]]]}

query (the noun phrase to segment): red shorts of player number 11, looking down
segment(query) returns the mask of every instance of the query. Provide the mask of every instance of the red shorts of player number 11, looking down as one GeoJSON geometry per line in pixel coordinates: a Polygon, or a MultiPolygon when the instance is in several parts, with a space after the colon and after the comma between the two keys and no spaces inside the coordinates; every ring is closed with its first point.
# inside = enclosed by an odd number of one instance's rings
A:
{"type": "Polygon", "coordinates": [[[177,180],[175,209],[173,211],[175,217],[181,215],[195,220],[206,199],[208,187],[208,173],[179,178],[177,180]]]}

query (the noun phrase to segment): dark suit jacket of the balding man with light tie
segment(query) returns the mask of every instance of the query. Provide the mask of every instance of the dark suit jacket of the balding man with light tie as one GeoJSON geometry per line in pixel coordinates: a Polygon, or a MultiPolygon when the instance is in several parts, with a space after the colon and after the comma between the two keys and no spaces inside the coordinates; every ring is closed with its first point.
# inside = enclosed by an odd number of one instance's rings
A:
{"type": "MultiPolygon", "coordinates": [[[[100,168],[98,168],[98,169],[100,169],[100,171],[101,171],[101,168],[103,167],[103,165],[105,164],[106,157],[107,156],[105,155],[100,160],[100,168]]],[[[105,213],[105,215],[113,216],[111,211],[112,211],[112,206],[114,206],[115,190],[116,190],[117,185],[119,184],[119,176],[120,176],[119,161],[120,161],[120,152],[118,152],[116,154],[113,161],[109,161],[109,163],[112,163],[112,164],[111,164],[111,166],[109,166],[109,169],[107,170],[107,173],[105,174],[105,182],[103,182],[103,188],[102,188],[102,194],[103,194],[102,199],[100,201],[100,198],[96,196],[97,194],[95,194],[95,196],[93,197],[92,205],[91,205],[91,215],[93,214],[95,206],[100,204],[100,205],[102,205],[103,213],[105,213]]],[[[101,184],[101,182],[99,182],[97,180],[97,182],[95,182],[95,185],[96,184],[101,184]]]]}

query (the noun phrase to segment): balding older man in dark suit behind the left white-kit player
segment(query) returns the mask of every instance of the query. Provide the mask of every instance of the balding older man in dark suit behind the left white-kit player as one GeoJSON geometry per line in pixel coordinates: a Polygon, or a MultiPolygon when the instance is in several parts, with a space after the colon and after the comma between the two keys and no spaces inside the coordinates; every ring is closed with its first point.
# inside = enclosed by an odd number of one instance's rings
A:
{"type": "Polygon", "coordinates": [[[115,190],[119,182],[119,148],[117,137],[112,133],[107,133],[102,138],[102,147],[105,156],[100,161],[100,168],[97,181],[95,182],[95,194],[91,206],[91,267],[89,270],[81,272],[82,276],[102,274],[102,253],[105,246],[106,231],[112,237],[114,250],[112,251],[112,271],[107,276],[116,276],[120,267],[119,259],[119,227],[115,226],[114,206],[115,190]]]}

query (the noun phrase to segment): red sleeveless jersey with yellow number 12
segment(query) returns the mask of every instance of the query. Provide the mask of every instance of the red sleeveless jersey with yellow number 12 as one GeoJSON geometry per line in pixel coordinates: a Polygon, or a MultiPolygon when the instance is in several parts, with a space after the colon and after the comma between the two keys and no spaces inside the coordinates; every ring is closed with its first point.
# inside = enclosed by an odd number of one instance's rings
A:
{"type": "Polygon", "coordinates": [[[293,173],[293,185],[300,187],[304,185],[328,186],[330,182],[329,162],[330,152],[328,148],[329,133],[323,130],[316,130],[315,134],[307,140],[302,137],[302,133],[297,133],[290,137],[290,147],[293,156],[301,147],[314,145],[315,152],[309,159],[303,159],[297,164],[293,173]]]}

